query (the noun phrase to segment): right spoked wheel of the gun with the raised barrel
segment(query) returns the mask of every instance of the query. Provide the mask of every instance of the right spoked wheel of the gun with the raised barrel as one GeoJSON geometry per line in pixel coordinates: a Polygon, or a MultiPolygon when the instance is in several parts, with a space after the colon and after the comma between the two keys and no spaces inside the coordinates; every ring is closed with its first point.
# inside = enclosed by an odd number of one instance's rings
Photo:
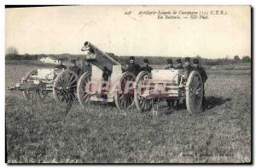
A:
{"type": "Polygon", "coordinates": [[[136,76],[125,72],[119,79],[119,91],[114,94],[114,103],[118,109],[130,109],[134,104],[133,83],[136,76]]]}

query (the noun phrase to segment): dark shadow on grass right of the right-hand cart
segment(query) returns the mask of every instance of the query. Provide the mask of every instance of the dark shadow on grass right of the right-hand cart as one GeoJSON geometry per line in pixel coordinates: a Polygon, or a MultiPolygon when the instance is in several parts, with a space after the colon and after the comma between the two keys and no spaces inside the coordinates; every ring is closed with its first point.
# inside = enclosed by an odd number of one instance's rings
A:
{"type": "Polygon", "coordinates": [[[212,109],[216,106],[225,104],[226,102],[230,102],[230,100],[231,98],[209,96],[209,97],[206,97],[203,109],[204,110],[212,109]]]}

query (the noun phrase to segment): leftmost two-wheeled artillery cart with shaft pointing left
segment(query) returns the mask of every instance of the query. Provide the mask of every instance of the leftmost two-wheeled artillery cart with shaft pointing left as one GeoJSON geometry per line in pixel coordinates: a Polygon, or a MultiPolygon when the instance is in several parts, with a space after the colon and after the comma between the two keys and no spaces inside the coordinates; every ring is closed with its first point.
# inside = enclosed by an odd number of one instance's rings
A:
{"type": "Polygon", "coordinates": [[[20,83],[8,89],[21,91],[31,104],[44,100],[49,93],[56,102],[70,102],[75,99],[78,79],[71,70],[38,69],[31,70],[20,79],[20,83]]]}

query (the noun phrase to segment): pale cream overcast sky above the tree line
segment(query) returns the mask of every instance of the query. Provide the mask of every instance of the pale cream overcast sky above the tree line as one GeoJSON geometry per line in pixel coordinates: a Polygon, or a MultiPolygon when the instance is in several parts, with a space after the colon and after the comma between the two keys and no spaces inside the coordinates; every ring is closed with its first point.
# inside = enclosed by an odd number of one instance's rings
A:
{"type": "Polygon", "coordinates": [[[80,54],[85,41],[116,55],[224,58],[251,55],[249,6],[76,6],[6,8],[5,47],[80,54]],[[208,20],[158,20],[140,11],[208,11],[208,20]],[[124,14],[131,11],[130,15],[124,14]]]}

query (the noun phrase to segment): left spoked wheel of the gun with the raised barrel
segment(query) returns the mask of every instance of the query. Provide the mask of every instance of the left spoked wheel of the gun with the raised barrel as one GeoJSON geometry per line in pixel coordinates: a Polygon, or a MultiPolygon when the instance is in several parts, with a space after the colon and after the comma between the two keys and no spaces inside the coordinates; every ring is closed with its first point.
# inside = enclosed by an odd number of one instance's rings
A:
{"type": "Polygon", "coordinates": [[[84,108],[87,104],[90,104],[90,78],[91,73],[85,72],[80,78],[77,87],[77,96],[79,104],[84,108]]]}

